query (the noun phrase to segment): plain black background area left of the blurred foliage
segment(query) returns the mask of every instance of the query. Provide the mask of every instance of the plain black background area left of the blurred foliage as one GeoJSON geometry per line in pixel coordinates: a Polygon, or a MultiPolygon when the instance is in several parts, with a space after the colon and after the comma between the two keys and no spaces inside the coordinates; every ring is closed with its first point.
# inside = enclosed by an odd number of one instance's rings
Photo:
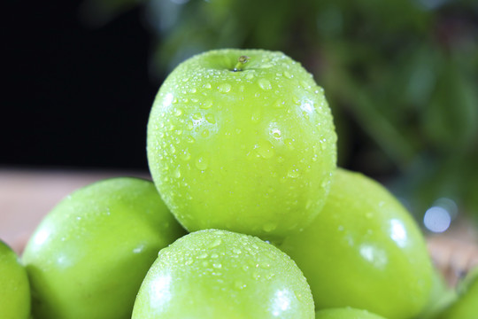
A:
{"type": "Polygon", "coordinates": [[[149,76],[140,9],[104,26],[80,1],[7,2],[0,166],[147,169],[149,76]]]}

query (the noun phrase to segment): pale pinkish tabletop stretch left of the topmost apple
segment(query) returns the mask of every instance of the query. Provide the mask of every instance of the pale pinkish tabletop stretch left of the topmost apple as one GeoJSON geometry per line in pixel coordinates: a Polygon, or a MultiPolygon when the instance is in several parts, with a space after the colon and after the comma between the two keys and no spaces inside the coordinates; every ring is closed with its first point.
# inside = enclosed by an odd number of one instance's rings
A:
{"type": "Polygon", "coordinates": [[[45,214],[72,191],[98,180],[144,172],[0,168],[0,239],[21,253],[45,214]]]}

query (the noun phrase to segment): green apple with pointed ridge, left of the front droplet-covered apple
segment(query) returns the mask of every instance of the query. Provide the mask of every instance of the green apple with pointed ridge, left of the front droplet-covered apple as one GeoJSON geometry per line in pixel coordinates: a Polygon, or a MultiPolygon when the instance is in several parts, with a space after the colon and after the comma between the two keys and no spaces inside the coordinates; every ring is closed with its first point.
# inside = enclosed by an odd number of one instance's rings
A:
{"type": "Polygon", "coordinates": [[[130,318],[158,251],[183,233],[150,181],[119,177],[73,192],[23,254],[35,319],[130,318]]]}

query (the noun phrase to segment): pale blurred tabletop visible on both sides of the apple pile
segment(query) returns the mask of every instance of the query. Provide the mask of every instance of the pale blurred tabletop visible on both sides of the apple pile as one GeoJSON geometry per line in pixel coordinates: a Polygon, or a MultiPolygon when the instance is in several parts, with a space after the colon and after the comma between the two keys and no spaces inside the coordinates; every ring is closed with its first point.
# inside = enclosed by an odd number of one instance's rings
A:
{"type": "MultiPolygon", "coordinates": [[[[21,253],[42,217],[66,195],[98,180],[116,176],[150,178],[147,172],[26,170],[0,167],[0,238],[21,253]]],[[[466,219],[450,230],[428,235],[428,249],[450,285],[478,266],[478,231],[466,219]]]]}

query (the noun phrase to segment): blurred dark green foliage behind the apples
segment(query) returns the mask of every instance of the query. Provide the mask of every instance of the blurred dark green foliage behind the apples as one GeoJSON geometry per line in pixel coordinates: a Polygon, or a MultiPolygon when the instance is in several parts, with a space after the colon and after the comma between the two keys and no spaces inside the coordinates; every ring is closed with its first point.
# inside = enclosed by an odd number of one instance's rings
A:
{"type": "Polygon", "coordinates": [[[477,1],[89,4],[106,12],[104,20],[143,5],[156,40],[151,66],[158,78],[215,48],[283,51],[325,89],[339,165],[384,181],[417,217],[443,197],[478,216],[477,1]]]}

